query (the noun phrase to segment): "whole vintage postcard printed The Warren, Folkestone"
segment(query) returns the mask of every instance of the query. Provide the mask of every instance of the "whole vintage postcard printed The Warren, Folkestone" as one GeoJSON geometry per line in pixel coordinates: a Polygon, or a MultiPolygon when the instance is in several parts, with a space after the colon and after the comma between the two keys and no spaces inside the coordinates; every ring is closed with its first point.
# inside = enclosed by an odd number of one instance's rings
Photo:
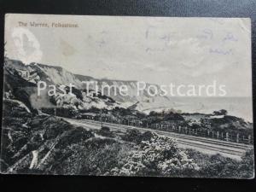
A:
{"type": "Polygon", "coordinates": [[[5,15],[1,172],[253,178],[251,20],[5,15]]]}

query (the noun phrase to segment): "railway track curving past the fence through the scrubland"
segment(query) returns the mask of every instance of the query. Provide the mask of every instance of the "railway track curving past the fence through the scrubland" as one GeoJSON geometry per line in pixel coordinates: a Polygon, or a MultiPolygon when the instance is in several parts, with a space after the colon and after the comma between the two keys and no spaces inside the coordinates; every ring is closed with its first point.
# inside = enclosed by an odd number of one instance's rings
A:
{"type": "MultiPolygon", "coordinates": [[[[88,119],[62,119],[67,120],[71,124],[84,126],[84,128],[101,129],[101,122],[99,121],[93,121],[88,119]]],[[[223,154],[224,156],[228,156],[234,159],[240,159],[241,156],[245,154],[248,149],[253,148],[252,145],[242,143],[229,143],[217,139],[195,137],[169,131],[152,130],[148,128],[136,127],[131,125],[118,125],[107,122],[104,122],[103,124],[107,125],[110,129],[116,131],[126,131],[127,129],[137,129],[142,132],[154,131],[159,135],[175,138],[177,140],[177,144],[181,145],[184,148],[195,148],[199,151],[210,154],[223,154]]]]}

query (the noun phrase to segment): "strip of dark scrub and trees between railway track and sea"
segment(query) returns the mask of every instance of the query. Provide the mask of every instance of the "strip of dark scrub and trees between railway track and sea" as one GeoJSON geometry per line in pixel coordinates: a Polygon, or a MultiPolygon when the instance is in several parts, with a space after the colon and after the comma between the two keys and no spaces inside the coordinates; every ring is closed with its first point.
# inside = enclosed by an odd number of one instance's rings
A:
{"type": "MultiPolygon", "coordinates": [[[[253,141],[253,124],[246,122],[244,119],[237,118],[227,114],[222,109],[214,111],[212,114],[203,113],[179,113],[173,110],[163,112],[150,112],[149,114],[141,113],[137,110],[129,108],[106,108],[102,111],[98,108],[90,108],[75,111],[73,108],[43,108],[44,113],[57,114],[57,116],[68,117],[73,119],[84,119],[84,114],[92,113],[90,119],[108,121],[116,124],[141,126],[152,130],[177,131],[182,130],[189,134],[201,137],[214,137],[218,139],[226,139],[226,133],[229,133],[229,139],[236,142],[237,134],[239,134],[239,142],[248,143],[248,137],[251,136],[253,141]],[[180,127],[180,128],[179,128],[180,127]],[[212,133],[214,131],[214,133],[212,133]],[[196,134],[195,134],[196,132],[196,134]],[[212,134],[214,134],[212,136],[212,134]]],[[[87,117],[89,118],[89,117],[87,117]]]]}

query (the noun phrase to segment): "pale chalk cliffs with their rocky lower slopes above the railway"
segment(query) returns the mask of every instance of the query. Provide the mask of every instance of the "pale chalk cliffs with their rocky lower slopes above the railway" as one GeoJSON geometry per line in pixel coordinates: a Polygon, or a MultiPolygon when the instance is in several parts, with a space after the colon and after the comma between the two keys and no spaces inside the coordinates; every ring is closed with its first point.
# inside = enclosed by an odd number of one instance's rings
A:
{"type": "MultiPolygon", "coordinates": [[[[159,106],[159,103],[170,102],[170,98],[167,96],[160,96],[160,87],[157,86],[159,95],[150,96],[148,95],[148,86],[150,84],[146,84],[146,89],[137,94],[138,84],[137,81],[122,81],[122,80],[111,80],[111,79],[94,79],[90,76],[84,76],[79,74],[73,74],[68,72],[62,67],[54,67],[48,66],[38,63],[31,63],[29,65],[23,64],[21,61],[15,60],[7,60],[5,62],[5,71],[9,73],[5,79],[10,79],[10,76],[15,76],[16,81],[13,86],[17,86],[20,83],[27,87],[37,86],[38,81],[44,81],[46,84],[55,84],[57,87],[61,84],[69,86],[73,84],[75,86],[75,90],[79,93],[81,97],[76,96],[60,96],[61,92],[57,89],[58,96],[55,96],[55,102],[61,106],[67,107],[68,104],[74,105],[75,103],[79,103],[77,106],[79,108],[109,108],[109,106],[122,106],[129,107],[132,104],[137,103],[137,109],[143,110],[145,108],[154,107],[154,103],[157,103],[156,106],[159,106]],[[105,101],[103,98],[95,97],[96,91],[95,86],[90,86],[90,90],[86,90],[86,84],[84,82],[88,81],[96,81],[99,92],[101,92],[103,86],[111,87],[108,92],[108,88],[103,89],[102,95],[107,95],[105,101]],[[125,85],[127,87],[127,96],[123,96],[120,94],[119,87],[125,85]],[[116,89],[114,89],[115,87],[116,89]],[[90,91],[90,96],[87,94],[90,91]],[[94,98],[93,98],[94,95],[94,98]],[[115,101],[116,103],[113,105],[113,102],[109,102],[110,100],[115,101]]],[[[13,79],[13,77],[11,77],[13,79]]],[[[8,84],[9,82],[7,82],[8,84]]],[[[152,92],[154,90],[151,90],[152,92]]],[[[32,101],[33,102],[33,101],[32,101]]],[[[41,101],[43,102],[43,101],[41,101]]],[[[49,103],[48,103],[49,104],[49,103]]],[[[47,106],[48,106],[47,104],[47,106]]]]}

